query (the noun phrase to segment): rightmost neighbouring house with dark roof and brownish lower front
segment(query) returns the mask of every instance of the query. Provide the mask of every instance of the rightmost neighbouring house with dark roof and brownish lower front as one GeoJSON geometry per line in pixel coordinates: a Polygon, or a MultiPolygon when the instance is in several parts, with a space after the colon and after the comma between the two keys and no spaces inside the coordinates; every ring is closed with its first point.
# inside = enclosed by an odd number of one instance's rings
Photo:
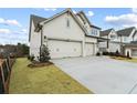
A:
{"type": "Polygon", "coordinates": [[[122,42],[123,53],[130,56],[137,56],[137,29],[135,27],[118,30],[117,34],[122,42]]]}

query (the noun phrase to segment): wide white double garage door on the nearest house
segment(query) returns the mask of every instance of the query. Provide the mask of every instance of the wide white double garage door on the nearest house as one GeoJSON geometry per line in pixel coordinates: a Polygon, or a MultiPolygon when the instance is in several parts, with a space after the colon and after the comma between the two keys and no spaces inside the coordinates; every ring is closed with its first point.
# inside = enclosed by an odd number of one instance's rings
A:
{"type": "Polygon", "coordinates": [[[82,42],[49,40],[48,47],[52,59],[82,55],[82,42]]]}

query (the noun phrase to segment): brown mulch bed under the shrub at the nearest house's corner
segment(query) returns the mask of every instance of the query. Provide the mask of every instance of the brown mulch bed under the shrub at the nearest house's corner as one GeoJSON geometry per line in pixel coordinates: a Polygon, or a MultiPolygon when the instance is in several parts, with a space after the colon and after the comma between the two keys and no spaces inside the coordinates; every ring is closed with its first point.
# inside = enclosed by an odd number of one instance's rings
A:
{"type": "Polygon", "coordinates": [[[52,62],[36,62],[36,61],[33,61],[32,63],[28,64],[29,68],[41,68],[41,66],[49,66],[53,64],[52,62]]]}

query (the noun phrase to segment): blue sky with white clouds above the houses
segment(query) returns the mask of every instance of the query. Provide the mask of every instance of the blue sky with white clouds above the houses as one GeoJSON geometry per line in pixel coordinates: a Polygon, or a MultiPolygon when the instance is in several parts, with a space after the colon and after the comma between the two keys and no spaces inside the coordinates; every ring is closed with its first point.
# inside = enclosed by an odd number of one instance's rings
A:
{"type": "MultiPolygon", "coordinates": [[[[28,43],[30,14],[50,18],[64,8],[53,9],[0,9],[0,44],[28,43]]],[[[137,27],[137,9],[130,8],[73,8],[75,13],[83,10],[91,23],[102,30],[114,28],[116,30],[137,27]]]]}

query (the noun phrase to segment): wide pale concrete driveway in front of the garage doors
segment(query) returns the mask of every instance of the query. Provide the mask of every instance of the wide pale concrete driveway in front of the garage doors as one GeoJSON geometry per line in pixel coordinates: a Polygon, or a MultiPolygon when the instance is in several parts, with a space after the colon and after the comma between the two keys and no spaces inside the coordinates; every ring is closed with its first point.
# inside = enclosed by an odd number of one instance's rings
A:
{"type": "Polygon", "coordinates": [[[97,94],[137,93],[137,63],[106,56],[52,60],[62,71],[97,94]]]}

